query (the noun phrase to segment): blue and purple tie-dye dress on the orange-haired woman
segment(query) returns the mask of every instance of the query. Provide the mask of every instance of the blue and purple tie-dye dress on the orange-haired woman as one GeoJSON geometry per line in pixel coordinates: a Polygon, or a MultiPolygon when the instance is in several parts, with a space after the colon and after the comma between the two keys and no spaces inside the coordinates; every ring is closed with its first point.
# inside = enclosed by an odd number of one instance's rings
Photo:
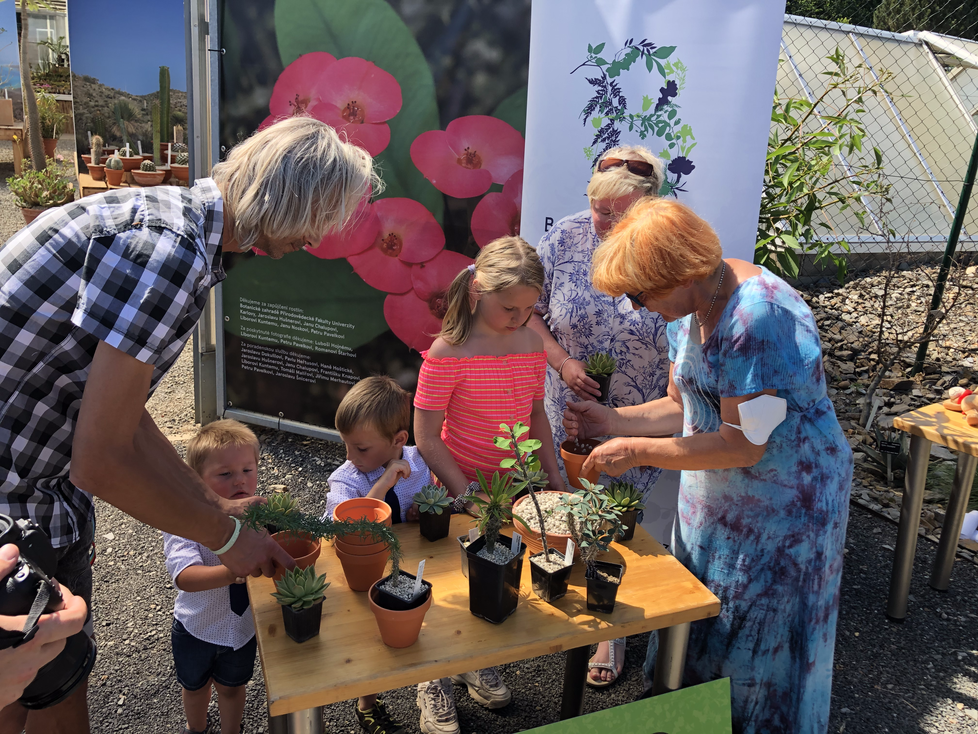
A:
{"type": "MultiPolygon", "coordinates": [[[[704,344],[669,325],[684,435],[720,427],[720,398],[775,389],[787,419],[755,466],[684,471],[677,558],[721,602],[694,622],[685,683],[729,676],[735,732],[825,732],[852,451],[826,395],[814,318],[783,280],[741,283],[704,344]]],[[[649,643],[646,674],[655,661],[649,643]]]]}

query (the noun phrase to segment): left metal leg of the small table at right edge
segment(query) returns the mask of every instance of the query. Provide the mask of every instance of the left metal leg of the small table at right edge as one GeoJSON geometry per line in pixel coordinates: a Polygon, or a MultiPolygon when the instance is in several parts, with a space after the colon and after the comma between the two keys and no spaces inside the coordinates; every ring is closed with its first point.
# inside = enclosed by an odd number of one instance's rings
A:
{"type": "Polygon", "coordinates": [[[893,573],[890,576],[890,598],[886,604],[886,616],[893,622],[902,622],[907,616],[907,596],[910,594],[913,556],[917,550],[920,510],[924,505],[930,446],[931,442],[926,438],[910,437],[910,458],[904,479],[903,501],[900,503],[900,527],[893,552],[893,573]]]}

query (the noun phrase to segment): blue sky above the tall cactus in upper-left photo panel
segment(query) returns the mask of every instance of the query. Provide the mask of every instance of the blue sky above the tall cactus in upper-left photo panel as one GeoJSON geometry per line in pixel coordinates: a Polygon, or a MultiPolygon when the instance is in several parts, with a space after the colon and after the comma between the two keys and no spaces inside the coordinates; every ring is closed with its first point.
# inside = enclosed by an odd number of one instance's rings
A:
{"type": "Polygon", "coordinates": [[[71,0],[68,33],[74,74],[143,95],[160,88],[160,67],[169,66],[170,88],[187,88],[183,0],[71,0]]]}

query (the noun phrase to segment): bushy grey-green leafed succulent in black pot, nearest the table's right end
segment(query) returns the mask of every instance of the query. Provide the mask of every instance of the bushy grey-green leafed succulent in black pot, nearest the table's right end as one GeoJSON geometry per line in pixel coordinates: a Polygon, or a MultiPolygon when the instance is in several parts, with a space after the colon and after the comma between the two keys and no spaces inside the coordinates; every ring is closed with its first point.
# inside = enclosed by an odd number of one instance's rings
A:
{"type": "Polygon", "coordinates": [[[599,561],[598,553],[608,550],[619,533],[621,517],[604,487],[587,479],[581,481],[584,488],[568,495],[558,509],[568,514],[567,524],[587,566],[584,571],[587,608],[593,612],[610,613],[615,609],[625,567],[620,563],[599,561]]]}

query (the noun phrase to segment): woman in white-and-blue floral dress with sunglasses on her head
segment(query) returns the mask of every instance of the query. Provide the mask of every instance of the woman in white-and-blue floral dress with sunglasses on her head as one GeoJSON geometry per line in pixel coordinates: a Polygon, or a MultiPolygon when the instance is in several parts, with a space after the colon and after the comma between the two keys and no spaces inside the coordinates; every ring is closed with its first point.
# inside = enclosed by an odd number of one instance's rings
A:
{"type": "MultiPolygon", "coordinates": [[[[614,357],[608,403],[640,405],[666,394],[669,362],[666,325],[658,314],[636,311],[624,296],[612,298],[591,285],[591,257],[601,238],[611,231],[634,202],[657,196],[664,171],[662,161],[646,148],[614,148],[601,157],[587,195],[590,208],[557,222],[540,240],[537,254],[543,263],[543,292],[530,328],[543,337],[547,352],[544,407],[553,430],[554,449],[562,474],[560,444],[567,438],[561,424],[570,399],[594,400],[598,383],[584,372],[584,363],[596,352],[614,357]],[[604,169],[604,170],[602,170],[604,169]]],[[[642,493],[643,526],[669,543],[676,513],[675,481],[653,491],[661,470],[637,467],[622,475],[642,493]],[[669,490],[669,487],[672,490],[669,490]]],[[[614,651],[602,642],[588,674],[591,685],[614,682],[624,663],[624,639],[614,651]]]]}

